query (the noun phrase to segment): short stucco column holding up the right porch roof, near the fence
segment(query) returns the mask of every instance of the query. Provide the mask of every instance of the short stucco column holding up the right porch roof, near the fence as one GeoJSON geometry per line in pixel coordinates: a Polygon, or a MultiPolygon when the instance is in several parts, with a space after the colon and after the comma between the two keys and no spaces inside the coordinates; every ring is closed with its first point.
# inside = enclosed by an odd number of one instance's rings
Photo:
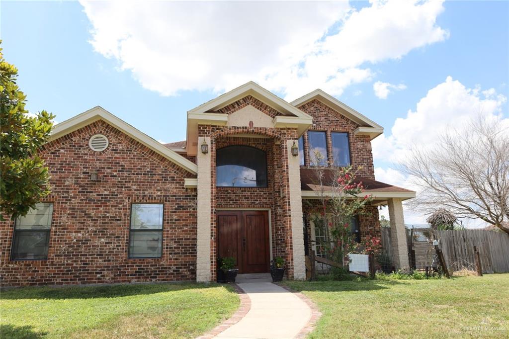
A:
{"type": "Polygon", "coordinates": [[[389,199],[390,241],[392,264],[396,269],[408,270],[408,246],[401,199],[389,199]]]}

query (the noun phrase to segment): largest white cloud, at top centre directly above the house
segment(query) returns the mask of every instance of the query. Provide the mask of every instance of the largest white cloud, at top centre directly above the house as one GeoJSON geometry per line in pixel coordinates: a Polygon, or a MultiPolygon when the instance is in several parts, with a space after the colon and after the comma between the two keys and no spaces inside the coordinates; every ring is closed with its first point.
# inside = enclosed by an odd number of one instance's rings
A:
{"type": "Polygon", "coordinates": [[[162,95],[229,90],[255,80],[289,99],[341,95],[371,79],[367,64],[442,41],[441,1],[91,2],[91,43],[162,95]]]}

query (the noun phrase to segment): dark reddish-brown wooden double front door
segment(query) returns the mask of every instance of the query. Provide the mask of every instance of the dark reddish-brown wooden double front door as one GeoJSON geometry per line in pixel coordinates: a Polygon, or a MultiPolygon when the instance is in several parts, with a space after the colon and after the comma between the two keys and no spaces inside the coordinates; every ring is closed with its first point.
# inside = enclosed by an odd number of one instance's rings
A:
{"type": "Polygon", "coordinates": [[[237,260],[239,273],[270,271],[267,211],[218,211],[217,248],[220,258],[237,260]]]}

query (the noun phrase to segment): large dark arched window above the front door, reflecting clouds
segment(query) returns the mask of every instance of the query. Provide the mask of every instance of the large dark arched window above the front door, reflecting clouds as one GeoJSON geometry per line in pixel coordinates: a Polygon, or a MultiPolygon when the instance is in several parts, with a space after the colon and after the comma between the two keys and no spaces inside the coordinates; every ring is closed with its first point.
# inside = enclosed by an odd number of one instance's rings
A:
{"type": "Polygon", "coordinates": [[[216,152],[216,186],[267,187],[267,155],[249,146],[228,146],[216,152]]]}

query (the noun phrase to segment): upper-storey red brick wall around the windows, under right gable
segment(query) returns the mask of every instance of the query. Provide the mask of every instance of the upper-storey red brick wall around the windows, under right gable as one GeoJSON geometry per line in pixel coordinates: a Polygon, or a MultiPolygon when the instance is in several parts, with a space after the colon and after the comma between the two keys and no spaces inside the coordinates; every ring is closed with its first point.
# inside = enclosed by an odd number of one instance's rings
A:
{"type": "MultiPolygon", "coordinates": [[[[359,177],[375,179],[375,170],[373,167],[373,153],[369,136],[354,135],[353,131],[359,125],[336,112],[329,106],[319,100],[312,100],[299,109],[313,117],[313,126],[308,130],[325,131],[327,138],[327,150],[329,161],[332,162],[332,142],[330,132],[347,132],[350,143],[350,159],[354,168],[361,166],[358,172],[359,177]]],[[[310,163],[307,133],[304,134],[304,163],[309,166],[310,163]]]]}

